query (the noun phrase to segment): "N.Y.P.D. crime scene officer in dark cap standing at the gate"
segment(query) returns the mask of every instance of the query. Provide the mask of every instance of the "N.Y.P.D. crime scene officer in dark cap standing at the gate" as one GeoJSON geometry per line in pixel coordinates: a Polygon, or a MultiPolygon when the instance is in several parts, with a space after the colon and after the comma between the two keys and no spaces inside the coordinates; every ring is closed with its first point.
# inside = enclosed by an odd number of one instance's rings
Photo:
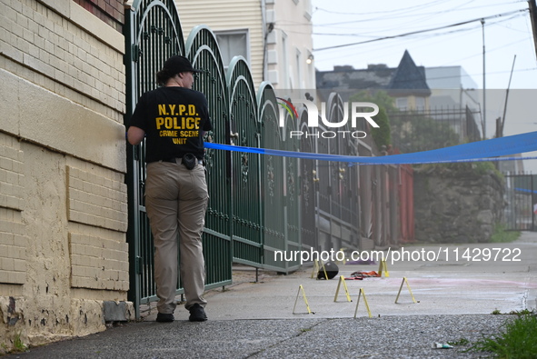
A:
{"type": "Polygon", "coordinates": [[[207,99],[194,91],[194,69],[180,55],[171,56],[156,74],[161,85],[141,96],[127,131],[131,145],[145,137],[145,208],[154,235],[157,322],[174,321],[177,241],[181,277],[191,322],[207,320],[204,306],[202,232],[209,198],[204,132],[213,129],[207,99]]]}

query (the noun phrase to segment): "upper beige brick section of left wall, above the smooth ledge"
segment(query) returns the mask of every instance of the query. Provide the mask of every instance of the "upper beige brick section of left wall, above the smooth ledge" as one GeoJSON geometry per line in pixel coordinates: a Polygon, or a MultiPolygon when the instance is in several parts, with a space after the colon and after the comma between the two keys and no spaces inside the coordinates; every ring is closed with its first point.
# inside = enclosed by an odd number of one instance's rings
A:
{"type": "Polygon", "coordinates": [[[2,55],[124,113],[122,35],[71,0],[2,0],[2,4],[2,55]]]}

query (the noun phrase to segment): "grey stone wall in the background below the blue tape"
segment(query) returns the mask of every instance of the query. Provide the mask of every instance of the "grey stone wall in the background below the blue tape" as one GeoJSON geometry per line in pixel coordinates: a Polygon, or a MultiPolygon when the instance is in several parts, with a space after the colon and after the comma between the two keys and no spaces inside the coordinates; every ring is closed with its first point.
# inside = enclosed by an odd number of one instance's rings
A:
{"type": "Polygon", "coordinates": [[[488,242],[494,225],[502,221],[503,192],[502,178],[476,165],[415,170],[415,239],[424,243],[488,242]]]}

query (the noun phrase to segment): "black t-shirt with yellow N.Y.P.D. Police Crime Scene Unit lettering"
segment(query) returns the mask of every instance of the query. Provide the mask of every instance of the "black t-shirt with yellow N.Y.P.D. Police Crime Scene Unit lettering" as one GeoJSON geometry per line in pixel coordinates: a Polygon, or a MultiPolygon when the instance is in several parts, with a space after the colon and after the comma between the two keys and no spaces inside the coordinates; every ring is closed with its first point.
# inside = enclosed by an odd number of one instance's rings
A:
{"type": "Polygon", "coordinates": [[[140,97],[131,124],[145,131],[145,162],[191,153],[204,158],[204,131],[213,129],[204,94],[184,87],[159,87],[140,97]]]}

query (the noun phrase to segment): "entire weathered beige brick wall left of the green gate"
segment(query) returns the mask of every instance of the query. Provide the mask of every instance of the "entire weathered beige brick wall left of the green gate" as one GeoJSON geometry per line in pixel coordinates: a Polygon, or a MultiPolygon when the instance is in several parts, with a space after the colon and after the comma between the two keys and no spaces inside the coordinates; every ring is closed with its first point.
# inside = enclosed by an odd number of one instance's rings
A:
{"type": "Polygon", "coordinates": [[[123,57],[73,0],[0,0],[0,354],[127,299],[123,57]]]}

